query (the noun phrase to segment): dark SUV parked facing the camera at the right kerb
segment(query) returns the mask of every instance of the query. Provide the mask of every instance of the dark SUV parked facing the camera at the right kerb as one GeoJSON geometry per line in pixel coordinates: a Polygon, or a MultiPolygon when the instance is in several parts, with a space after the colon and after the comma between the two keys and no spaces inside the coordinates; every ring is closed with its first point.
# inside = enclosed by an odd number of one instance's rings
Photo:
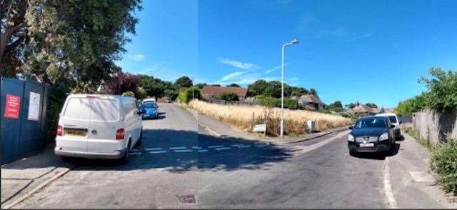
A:
{"type": "Polygon", "coordinates": [[[348,135],[348,149],[351,155],[357,152],[393,151],[395,137],[391,124],[386,116],[366,116],[358,119],[355,126],[351,126],[348,135]]]}

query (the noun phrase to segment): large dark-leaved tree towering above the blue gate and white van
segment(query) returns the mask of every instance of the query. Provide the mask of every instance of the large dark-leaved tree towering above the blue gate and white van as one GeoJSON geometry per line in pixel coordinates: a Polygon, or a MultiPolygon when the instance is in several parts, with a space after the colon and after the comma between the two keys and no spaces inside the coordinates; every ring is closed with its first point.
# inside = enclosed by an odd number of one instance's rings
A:
{"type": "Polygon", "coordinates": [[[135,34],[139,0],[27,0],[24,73],[78,92],[94,92],[135,34]]]}

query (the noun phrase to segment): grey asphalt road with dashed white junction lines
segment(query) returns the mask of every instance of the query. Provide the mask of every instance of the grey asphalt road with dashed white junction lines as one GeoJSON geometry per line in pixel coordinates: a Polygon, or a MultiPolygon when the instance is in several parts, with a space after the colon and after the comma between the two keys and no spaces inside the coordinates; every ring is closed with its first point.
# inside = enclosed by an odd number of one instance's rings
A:
{"type": "Polygon", "coordinates": [[[384,157],[349,156],[348,131],[281,145],[217,138],[179,106],[159,106],[159,119],[143,121],[128,164],[75,160],[75,169],[15,207],[388,207],[384,157]]]}

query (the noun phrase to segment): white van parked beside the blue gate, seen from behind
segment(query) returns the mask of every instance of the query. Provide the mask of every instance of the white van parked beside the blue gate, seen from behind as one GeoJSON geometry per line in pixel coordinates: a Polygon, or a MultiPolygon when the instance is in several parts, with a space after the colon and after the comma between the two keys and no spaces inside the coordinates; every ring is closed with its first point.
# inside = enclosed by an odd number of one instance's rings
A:
{"type": "Polygon", "coordinates": [[[62,157],[127,161],[141,141],[141,111],[132,97],[73,94],[59,116],[54,151],[62,157]]]}

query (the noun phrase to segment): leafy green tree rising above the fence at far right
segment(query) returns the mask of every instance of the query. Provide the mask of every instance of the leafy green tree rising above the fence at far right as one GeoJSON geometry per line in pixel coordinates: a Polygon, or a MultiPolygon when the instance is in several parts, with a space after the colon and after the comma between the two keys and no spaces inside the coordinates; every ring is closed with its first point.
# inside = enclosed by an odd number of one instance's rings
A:
{"type": "Polygon", "coordinates": [[[431,78],[419,79],[428,88],[428,107],[440,112],[457,110],[457,71],[432,68],[429,74],[431,78]]]}

